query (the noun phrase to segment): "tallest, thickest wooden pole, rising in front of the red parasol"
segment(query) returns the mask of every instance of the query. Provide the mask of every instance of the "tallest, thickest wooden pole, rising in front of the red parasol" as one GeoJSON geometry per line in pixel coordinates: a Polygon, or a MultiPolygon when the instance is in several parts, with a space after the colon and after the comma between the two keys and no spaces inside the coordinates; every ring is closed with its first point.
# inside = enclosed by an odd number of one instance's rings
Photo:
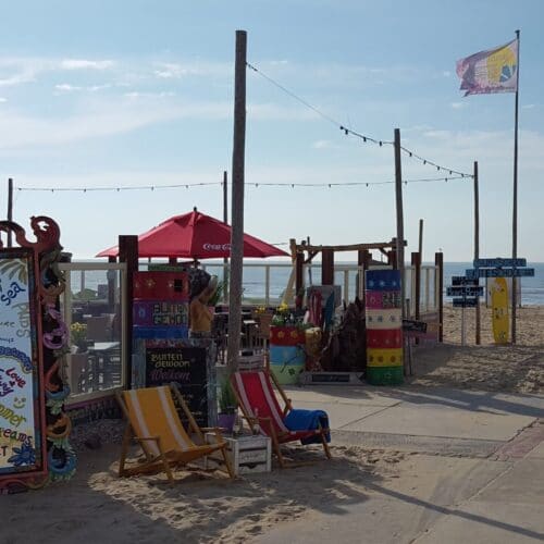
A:
{"type": "Polygon", "coordinates": [[[238,367],[242,329],[242,281],[244,264],[244,163],[246,150],[246,58],[247,33],[236,30],[234,66],[234,137],[231,230],[231,279],[228,300],[228,345],[226,363],[230,373],[238,367]]]}

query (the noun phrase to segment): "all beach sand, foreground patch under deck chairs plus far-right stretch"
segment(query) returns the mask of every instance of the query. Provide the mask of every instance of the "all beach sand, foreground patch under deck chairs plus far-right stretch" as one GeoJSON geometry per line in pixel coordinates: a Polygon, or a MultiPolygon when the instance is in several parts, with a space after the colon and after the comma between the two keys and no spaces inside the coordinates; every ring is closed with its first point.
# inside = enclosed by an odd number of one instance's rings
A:
{"type": "MultiPolygon", "coordinates": [[[[482,309],[481,346],[474,346],[473,310],[466,311],[467,346],[460,346],[460,310],[446,307],[444,317],[445,343],[415,348],[416,375],[408,382],[544,393],[543,308],[519,310],[517,346],[493,345],[489,310],[482,309]]],[[[116,426],[112,441],[119,441],[116,426]]],[[[177,472],[182,481],[170,486],[163,475],[119,479],[119,443],[91,450],[77,431],[74,438],[82,452],[72,481],[0,497],[2,544],[242,543],[288,520],[311,522],[312,512],[341,514],[350,504],[364,502],[373,485],[391,479],[399,491],[409,490],[413,485],[409,462],[417,457],[333,445],[334,458],[325,461],[320,447],[298,447],[297,460],[317,462],[297,469],[274,467],[271,473],[235,481],[218,472],[177,472]]],[[[423,482],[424,471],[418,478],[423,482]]]]}

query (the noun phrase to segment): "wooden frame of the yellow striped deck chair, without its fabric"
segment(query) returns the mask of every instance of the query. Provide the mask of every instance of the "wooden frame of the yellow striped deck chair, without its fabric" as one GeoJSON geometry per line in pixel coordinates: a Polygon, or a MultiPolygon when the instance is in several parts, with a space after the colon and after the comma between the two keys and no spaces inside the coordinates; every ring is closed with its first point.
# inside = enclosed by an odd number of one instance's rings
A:
{"type": "MultiPolygon", "coordinates": [[[[119,405],[121,406],[121,409],[125,416],[125,419],[127,421],[125,433],[123,436],[123,443],[121,447],[121,457],[119,461],[119,475],[120,477],[131,477],[131,475],[137,475],[137,474],[145,474],[145,473],[152,473],[152,472],[165,472],[166,478],[169,482],[172,484],[175,482],[174,474],[172,469],[175,467],[180,466],[186,466],[189,462],[199,459],[201,457],[206,457],[213,452],[221,452],[221,455],[223,457],[223,462],[225,465],[226,471],[230,475],[230,478],[234,478],[234,470],[232,468],[231,461],[228,459],[228,456],[226,454],[226,442],[224,442],[221,431],[219,428],[200,428],[198,426],[198,423],[196,422],[193,413],[190,412],[187,404],[185,403],[185,399],[183,398],[182,394],[175,386],[175,384],[170,385],[170,392],[174,394],[176,400],[178,401],[180,406],[182,407],[188,422],[189,422],[189,432],[191,431],[194,434],[197,435],[198,440],[203,444],[203,445],[196,445],[194,444],[193,447],[190,447],[187,450],[180,452],[180,450],[170,450],[166,452],[164,450],[162,444],[161,444],[161,437],[160,436],[138,436],[136,434],[136,431],[131,423],[131,413],[128,410],[128,407],[126,406],[126,403],[123,398],[123,393],[118,392],[116,397],[119,405]],[[205,432],[214,432],[215,433],[215,444],[206,444],[205,443],[205,432]],[[146,460],[143,462],[138,462],[137,466],[132,466],[132,467],[126,467],[126,456],[128,453],[128,447],[131,445],[131,442],[135,441],[137,442],[146,457],[146,460]],[[152,442],[157,446],[157,449],[159,450],[158,455],[153,455],[150,452],[150,448],[148,447],[148,444],[152,442]]],[[[177,417],[177,413],[176,413],[177,417]]]]}

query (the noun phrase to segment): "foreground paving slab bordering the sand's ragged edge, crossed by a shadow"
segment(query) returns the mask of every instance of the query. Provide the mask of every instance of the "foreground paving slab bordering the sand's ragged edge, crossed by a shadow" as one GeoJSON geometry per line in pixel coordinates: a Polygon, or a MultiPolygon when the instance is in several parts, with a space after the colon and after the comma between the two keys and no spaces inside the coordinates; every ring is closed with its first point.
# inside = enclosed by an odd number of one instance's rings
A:
{"type": "Polygon", "coordinates": [[[448,505],[472,496],[506,467],[485,460],[412,456],[404,461],[403,478],[363,483],[367,500],[346,505],[342,514],[309,512],[251,542],[407,544],[449,514],[448,505]]]}

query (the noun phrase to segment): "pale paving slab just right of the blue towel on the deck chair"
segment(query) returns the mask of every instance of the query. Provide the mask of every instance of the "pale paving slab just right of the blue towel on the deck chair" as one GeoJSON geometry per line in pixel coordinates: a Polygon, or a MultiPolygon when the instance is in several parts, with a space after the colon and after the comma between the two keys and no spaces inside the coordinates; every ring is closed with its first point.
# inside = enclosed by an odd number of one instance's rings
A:
{"type": "Polygon", "coordinates": [[[534,418],[403,403],[342,426],[344,431],[508,441],[534,418]]]}

